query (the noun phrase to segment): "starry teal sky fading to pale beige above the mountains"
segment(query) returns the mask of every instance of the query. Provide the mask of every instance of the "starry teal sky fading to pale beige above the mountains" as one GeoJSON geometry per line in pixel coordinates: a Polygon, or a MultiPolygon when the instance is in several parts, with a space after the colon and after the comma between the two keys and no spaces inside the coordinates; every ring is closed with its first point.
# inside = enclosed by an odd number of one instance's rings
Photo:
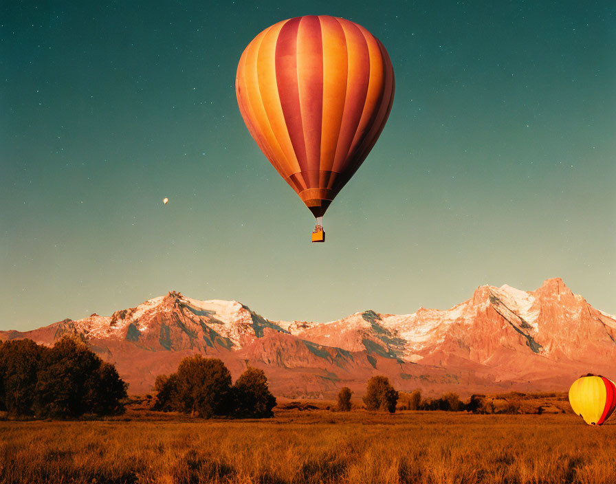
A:
{"type": "Polygon", "coordinates": [[[169,290],[272,319],[408,314],[551,277],[616,314],[613,1],[0,9],[0,329],[169,290]],[[305,14],[363,25],[396,75],[325,244],[234,91],[245,45],[305,14]]]}

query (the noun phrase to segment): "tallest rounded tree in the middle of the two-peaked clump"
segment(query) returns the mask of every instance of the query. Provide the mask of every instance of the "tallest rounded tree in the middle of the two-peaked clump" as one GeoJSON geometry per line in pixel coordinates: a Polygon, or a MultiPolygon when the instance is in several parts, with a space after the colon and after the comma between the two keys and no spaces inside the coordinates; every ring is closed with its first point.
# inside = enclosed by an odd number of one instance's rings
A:
{"type": "Polygon", "coordinates": [[[232,411],[231,373],[217,358],[187,356],[177,368],[180,410],[209,419],[232,411]]]}

